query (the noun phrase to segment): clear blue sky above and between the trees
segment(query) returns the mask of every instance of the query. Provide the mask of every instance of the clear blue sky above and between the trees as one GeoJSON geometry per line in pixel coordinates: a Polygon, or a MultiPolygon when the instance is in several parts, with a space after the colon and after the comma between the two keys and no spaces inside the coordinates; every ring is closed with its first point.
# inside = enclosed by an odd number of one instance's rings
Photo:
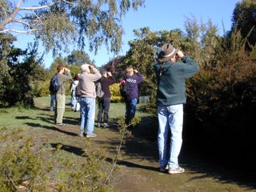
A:
{"type": "MultiPolygon", "coordinates": [[[[129,49],[128,41],[134,39],[134,29],[148,26],[151,31],[174,29],[184,31],[186,18],[190,18],[191,15],[198,22],[206,23],[210,19],[215,26],[218,26],[219,34],[223,34],[222,23],[225,30],[230,30],[231,17],[237,2],[241,2],[241,0],[146,0],[145,7],[141,7],[137,11],[130,10],[123,19],[122,25],[125,34],[122,38],[122,51],[119,55],[126,54],[129,49]]],[[[18,42],[15,42],[15,46],[22,49],[26,47],[27,42],[33,41],[33,38],[25,34],[18,34],[17,37],[18,42]]],[[[42,46],[40,46],[39,51],[43,52],[42,46]]],[[[90,53],[87,49],[86,53],[90,55],[91,60],[94,59],[96,66],[105,65],[106,62],[114,58],[114,54],[106,52],[105,46],[98,50],[97,55],[90,53]]],[[[66,56],[66,54],[63,54],[63,56],[66,56]]],[[[54,58],[49,53],[45,55],[44,60],[44,65],[48,68],[54,58]]]]}

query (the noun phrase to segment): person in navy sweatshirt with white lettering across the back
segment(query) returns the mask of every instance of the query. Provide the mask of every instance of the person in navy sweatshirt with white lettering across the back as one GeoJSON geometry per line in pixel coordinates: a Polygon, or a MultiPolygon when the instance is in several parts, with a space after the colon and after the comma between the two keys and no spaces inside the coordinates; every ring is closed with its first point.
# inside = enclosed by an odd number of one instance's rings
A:
{"type": "MultiPolygon", "coordinates": [[[[126,68],[126,76],[123,78],[130,87],[130,93],[127,95],[126,101],[126,125],[130,125],[131,120],[136,113],[136,106],[138,103],[138,84],[143,81],[143,76],[138,70],[134,70],[129,66],[126,68]]],[[[132,128],[132,126],[129,126],[132,128]]]]}

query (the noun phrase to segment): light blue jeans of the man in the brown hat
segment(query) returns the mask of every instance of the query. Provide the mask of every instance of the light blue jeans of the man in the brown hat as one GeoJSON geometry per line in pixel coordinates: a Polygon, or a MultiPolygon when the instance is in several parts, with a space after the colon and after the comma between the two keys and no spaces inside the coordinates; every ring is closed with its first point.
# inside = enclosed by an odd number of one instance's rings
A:
{"type": "Polygon", "coordinates": [[[177,167],[182,148],[183,105],[158,106],[158,124],[160,167],[177,167]]]}

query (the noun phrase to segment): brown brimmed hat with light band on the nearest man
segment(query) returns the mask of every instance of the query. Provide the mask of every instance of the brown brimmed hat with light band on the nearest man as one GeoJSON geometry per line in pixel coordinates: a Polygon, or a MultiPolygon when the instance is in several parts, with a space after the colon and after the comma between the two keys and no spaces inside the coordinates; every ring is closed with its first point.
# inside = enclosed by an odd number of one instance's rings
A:
{"type": "Polygon", "coordinates": [[[159,62],[167,62],[170,58],[174,57],[174,55],[178,52],[170,43],[166,43],[161,47],[161,51],[158,54],[159,62]]]}

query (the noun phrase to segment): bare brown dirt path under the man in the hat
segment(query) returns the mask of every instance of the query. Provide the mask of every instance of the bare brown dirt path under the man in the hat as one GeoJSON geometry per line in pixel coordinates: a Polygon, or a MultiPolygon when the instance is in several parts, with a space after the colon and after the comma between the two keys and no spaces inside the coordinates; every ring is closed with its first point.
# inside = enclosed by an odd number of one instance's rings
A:
{"type": "MultiPolygon", "coordinates": [[[[47,112],[50,113],[50,112],[47,112]]],[[[74,112],[73,112],[74,113],[74,112]]],[[[71,121],[71,119],[70,119],[71,121]]],[[[143,121],[145,122],[145,121],[143,121]]],[[[198,154],[190,148],[183,149],[180,155],[180,166],[185,168],[183,174],[163,174],[158,170],[158,150],[155,135],[142,134],[150,129],[148,124],[140,124],[134,130],[133,136],[126,139],[122,147],[122,160],[118,162],[120,169],[114,179],[115,192],[256,192],[255,175],[240,173],[227,162],[216,162],[216,159],[198,158],[198,154]],[[248,180],[246,177],[254,177],[248,180]]],[[[79,138],[78,123],[70,122],[61,130],[43,130],[45,134],[55,134],[59,139],[77,147],[82,144],[79,138]]],[[[110,128],[95,128],[97,138],[92,138],[95,146],[106,151],[113,158],[118,146],[120,134],[116,119],[111,119],[110,128]]],[[[73,151],[74,153],[74,151],[73,151]]],[[[218,159],[218,158],[217,158],[218,159]]]]}

